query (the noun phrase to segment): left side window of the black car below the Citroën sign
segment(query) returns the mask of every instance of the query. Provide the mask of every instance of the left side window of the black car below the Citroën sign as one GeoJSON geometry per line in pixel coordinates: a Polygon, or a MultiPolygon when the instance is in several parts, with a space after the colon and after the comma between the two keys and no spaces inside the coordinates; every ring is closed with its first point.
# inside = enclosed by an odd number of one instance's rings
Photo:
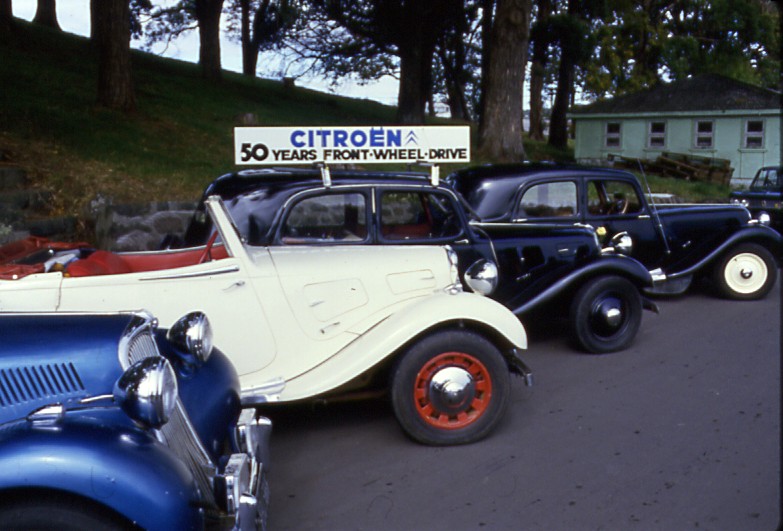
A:
{"type": "Polygon", "coordinates": [[[359,193],[305,198],[286,216],[280,232],[283,243],[349,243],[367,238],[367,207],[359,193]]]}

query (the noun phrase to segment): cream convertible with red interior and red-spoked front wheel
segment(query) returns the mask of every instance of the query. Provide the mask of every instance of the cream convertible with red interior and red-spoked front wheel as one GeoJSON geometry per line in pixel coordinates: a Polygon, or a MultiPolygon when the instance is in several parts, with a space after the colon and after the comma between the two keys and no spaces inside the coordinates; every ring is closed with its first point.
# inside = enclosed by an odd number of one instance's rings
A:
{"type": "MultiPolygon", "coordinates": [[[[65,262],[52,257],[48,270],[39,263],[10,277],[0,271],[0,311],[143,305],[169,326],[198,309],[237,368],[243,403],[390,387],[406,433],[429,444],[484,437],[507,406],[509,372],[530,381],[520,359],[524,327],[495,301],[462,291],[453,252],[357,246],[348,237],[332,240],[342,245],[267,247],[240,239],[220,198],[205,209],[217,230],[201,247],[85,249],[65,262]]],[[[312,243],[303,223],[283,237],[312,243]]],[[[349,228],[361,232],[339,227],[349,228]]]]}

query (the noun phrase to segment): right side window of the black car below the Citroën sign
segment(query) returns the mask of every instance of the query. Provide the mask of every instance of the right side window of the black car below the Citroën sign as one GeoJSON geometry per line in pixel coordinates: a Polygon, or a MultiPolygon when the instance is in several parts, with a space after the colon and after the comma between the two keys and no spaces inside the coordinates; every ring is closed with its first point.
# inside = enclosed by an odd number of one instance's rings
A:
{"type": "Polygon", "coordinates": [[[384,191],[380,212],[384,240],[453,238],[461,231],[460,218],[452,201],[441,194],[384,191]]]}

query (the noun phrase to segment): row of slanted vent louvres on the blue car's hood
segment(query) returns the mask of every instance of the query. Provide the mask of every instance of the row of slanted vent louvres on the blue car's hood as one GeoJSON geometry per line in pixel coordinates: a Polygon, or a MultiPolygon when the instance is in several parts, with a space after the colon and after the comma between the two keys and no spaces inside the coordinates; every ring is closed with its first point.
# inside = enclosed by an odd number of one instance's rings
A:
{"type": "Polygon", "coordinates": [[[0,406],[33,402],[44,397],[75,395],[84,384],[72,363],[31,365],[0,370],[0,406]]]}

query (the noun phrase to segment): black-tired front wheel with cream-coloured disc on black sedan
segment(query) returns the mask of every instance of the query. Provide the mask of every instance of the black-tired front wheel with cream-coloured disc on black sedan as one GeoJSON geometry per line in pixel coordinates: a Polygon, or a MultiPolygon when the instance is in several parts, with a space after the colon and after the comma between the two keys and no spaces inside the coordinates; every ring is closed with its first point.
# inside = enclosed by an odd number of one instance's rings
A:
{"type": "Polygon", "coordinates": [[[712,280],[727,299],[751,301],[766,297],[777,275],[777,264],[766,247],[743,243],[715,264],[712,280]]]}

